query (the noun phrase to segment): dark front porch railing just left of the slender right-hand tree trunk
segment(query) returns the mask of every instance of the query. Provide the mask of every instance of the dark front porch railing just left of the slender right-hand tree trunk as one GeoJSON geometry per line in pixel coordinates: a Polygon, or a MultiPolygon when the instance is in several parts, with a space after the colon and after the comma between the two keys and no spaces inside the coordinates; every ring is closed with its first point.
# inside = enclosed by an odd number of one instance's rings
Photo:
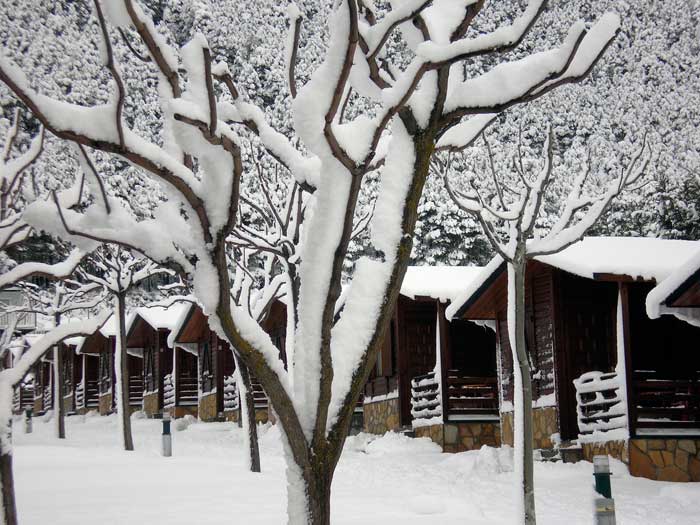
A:
{"type": "Polygon", "coordinates": [[[498,416],[498,381],[495,377],[447,373],[447,413],[449,417],[498,416]]]}

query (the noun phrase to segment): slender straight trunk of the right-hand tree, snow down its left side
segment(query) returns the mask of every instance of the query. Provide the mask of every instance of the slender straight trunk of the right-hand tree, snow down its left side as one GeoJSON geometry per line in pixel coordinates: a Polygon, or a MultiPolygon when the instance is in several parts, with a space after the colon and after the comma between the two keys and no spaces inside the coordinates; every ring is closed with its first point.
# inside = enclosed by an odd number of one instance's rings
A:
{"type": "Polygon", "coordinates": [[[532,437],[532,376],[525,343],[525,269],[527,260],[517,256],[508,264],[508,335],[513,352],[515,410],[513,440],[515,474],[522,498],[522,523],[535,525],[535,484],[532,437]]]}

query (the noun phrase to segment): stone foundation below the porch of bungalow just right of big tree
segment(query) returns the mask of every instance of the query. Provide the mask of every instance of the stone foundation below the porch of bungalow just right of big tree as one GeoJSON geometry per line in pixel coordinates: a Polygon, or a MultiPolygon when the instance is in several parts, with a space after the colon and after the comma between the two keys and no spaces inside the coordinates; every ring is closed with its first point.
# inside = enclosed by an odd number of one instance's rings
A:
{"type": "Polygon", "coordinates": [[[483,445],[501,446],[501,433],[497,421],[470,421],[429,425],[414,430],[416,437],[430,438],[444,452],[478,450],[483,445]]]}

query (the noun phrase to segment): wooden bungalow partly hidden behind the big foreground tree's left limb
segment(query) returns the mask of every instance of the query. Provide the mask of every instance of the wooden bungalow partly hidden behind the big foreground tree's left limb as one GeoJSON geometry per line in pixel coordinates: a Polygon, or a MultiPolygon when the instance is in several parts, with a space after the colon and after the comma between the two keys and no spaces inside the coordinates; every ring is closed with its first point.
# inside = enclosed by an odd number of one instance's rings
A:
{"type": "MultiPolygon", "coordinates": [[[[263,328],[283,356],[286,310],[282,303],[272,304],[263,328]]],[[[187,308],[168,343],[176,353],[188,353],[197,358],[199,418],[202,421],[239,421],[240,403],[233,354],[228,343],[209,328],[206,316],[198,306],[187,308]]],[[[269,418],[267,396],[262,386],[251,379],[255,417],[257,421],[265,422],[269,418]]]]}

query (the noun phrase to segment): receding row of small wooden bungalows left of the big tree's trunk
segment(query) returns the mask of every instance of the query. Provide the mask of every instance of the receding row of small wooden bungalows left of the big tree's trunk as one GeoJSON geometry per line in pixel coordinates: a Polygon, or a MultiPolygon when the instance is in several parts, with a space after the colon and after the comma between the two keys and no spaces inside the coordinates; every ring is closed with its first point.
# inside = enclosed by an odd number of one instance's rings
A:
{"type": "MultiPolygon", "coordinates": [[[[263,328],[284,359],[286,307],[282,303],[272,304],[263,328]]],[[[67,414],[115,411],[116,330],[111,317],[93,334],[61,344],[60,396],[67,414]]],[[[203,421],[240,420],[233,354],[228,343],[210,330],[198,306],[137,308],[126,320],[126,346],[132,412],[142,410],[148,417],[168,412],[172,417],[189,414],[203,421]]],[[[54,406],[52,367],[53,353],[49,352],[27,382],[34,396],[31,407],[37,414],[54,406]]],[[[256,419],[264,422],[268,420],[267,397],[252,380],[256,419]]]]}

